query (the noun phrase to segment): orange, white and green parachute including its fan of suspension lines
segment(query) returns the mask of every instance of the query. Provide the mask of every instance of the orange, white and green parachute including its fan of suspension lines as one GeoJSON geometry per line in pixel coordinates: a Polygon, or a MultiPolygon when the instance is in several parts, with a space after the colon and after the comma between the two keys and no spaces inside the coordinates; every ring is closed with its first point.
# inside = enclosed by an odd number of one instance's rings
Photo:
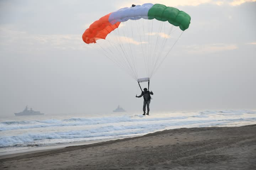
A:
{"type": "Polygon", "coordinates": [[[190,20],[191,17],[186,12],[174,7],[150,3],[132,5],[92,23],[85,30],[82,39],[87,44],[97,41],[103,54],[137,81],[138,65],[141,66],[144,62],[145,68],[142,70],[145,70],[149,80],[170,54],[182,32],[189,27],[190,20]],[[174,26],[181,31],[176,38],[173,34],[178,31],[174,26]],[[105,42],[100,42],[100,39],[105,42]],[[169,43],[169,40],[172,42],[169,43]]]}

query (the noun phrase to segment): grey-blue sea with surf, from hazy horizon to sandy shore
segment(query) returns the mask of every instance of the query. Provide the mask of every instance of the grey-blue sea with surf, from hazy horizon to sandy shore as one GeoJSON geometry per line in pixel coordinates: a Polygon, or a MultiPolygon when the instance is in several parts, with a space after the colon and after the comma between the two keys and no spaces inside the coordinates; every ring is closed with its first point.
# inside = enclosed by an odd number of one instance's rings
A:
{"type": "Polygon", "coordinates": [[[166,129],[256,124],[256,110],[34,115],[0,118],[0,156],[142,136],[166,129]]]}

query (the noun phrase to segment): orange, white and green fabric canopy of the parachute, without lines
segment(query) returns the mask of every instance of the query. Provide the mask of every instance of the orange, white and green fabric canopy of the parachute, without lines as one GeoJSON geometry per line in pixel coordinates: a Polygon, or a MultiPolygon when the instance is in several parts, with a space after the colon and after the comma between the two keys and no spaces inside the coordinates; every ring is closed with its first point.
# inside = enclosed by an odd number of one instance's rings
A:
{"type": "Polygon", "coordinates": [[[87,44],[96,43],[96,40],[105,39],[109,33],[118,28],[120,22],[141,18],[168,21],[170,24],[180,27],[182,31],[189,27],[191,20],[191,17],[186,12],[174,7],[151,3],[133,5],[132,7],[121,8],[101,17],[85,30],[82,39],[87,44]]]}

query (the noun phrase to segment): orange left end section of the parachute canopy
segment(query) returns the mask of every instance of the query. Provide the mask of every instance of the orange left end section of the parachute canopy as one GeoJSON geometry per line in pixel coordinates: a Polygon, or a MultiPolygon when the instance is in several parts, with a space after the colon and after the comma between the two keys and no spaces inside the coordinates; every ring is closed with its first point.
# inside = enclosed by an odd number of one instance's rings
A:
{"type": "Polygon", "coordinates": [[[111,24],[108,18],[111,13],[101,17],[99,20],[95,21],[90,25],[88,29],[85,30],[82,35],[82,39],[85,43],[96,43],[98,39],[105,39],[106,36],[111,33],[114,29],[118,28],[120,22],[111,24]]]}

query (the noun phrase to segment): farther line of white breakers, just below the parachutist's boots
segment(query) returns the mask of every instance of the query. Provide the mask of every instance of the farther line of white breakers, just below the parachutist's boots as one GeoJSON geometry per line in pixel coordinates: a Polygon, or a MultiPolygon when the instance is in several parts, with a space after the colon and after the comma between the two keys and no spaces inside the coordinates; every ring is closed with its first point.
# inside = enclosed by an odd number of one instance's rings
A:
{"type": "Polygon", "coordinates": [[[80,126],[80,125],[104,125],[111,123],[126,123],[126,122],[152,122],[152,121],[169,121],[188,118],[208,118],[211,115],[236,116],[243,114],[256,114],[255,111],[247,110],[224,110],[224,111],[202,111],[195,112],[192,116],[177,116],[177,117],[144,117],[141,114],[123,115],[100,118],[70,118],[70,119],[48,119],[48,120],[31,120],[31,121],[4,121],[0,123],[0,131],[17,130],[17,129],[31,129],[31,128],[47,128],[47,127],[61,127],[61,126],[80,126]]]}

